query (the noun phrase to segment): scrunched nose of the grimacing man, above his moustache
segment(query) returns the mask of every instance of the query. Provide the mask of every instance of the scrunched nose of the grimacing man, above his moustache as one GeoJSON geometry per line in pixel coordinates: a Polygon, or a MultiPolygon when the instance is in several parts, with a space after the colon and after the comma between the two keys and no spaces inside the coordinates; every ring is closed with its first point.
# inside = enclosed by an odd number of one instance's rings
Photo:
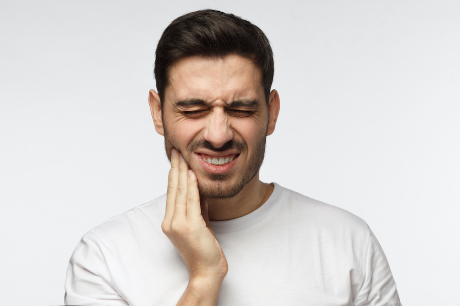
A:
{"type": "Polygon", "coordinates": [[[211,142],[216,148],[220,148],[226,142],[233,139],[233,130],[222,108],[214,108],[209,114],[208,124],[204,127],[203,137],[204,140],[211,142]]]}

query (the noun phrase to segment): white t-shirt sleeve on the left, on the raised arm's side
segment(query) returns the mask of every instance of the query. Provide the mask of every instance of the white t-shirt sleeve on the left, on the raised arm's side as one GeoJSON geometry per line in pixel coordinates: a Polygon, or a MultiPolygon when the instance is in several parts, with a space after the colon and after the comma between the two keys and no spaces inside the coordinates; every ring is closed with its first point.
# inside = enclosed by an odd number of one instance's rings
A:
{"type": "Polygon", "coordinates": [[[128,305],[111,285],[110,271],[101,249],[85,236],[68,264],[64,302],[65,305],[128,305]]]}

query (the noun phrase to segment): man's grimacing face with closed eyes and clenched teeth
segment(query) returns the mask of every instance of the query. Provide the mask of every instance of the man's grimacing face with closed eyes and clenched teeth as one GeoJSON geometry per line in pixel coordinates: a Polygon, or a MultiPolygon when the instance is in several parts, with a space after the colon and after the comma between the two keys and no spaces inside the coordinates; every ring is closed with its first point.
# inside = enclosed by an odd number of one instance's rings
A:
{"type": "Polygon", "coordinates": [[[162,126],[155,127],[168,157],[178,149],[195,172],[202,196],[233,197],[258,180],[274,122],[254,63],[237,55],[179,59],[164,96],[162,126]]]}

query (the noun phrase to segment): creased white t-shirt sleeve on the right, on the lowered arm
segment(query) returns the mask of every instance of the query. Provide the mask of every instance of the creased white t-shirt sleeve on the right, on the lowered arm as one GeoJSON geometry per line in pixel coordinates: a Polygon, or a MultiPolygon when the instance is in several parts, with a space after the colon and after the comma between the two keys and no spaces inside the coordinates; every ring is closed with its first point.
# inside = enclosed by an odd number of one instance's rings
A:
{"type": "Polygon", "coordinates": [[[365,277],[354,306],[401,306],[388,261],[372,231],[365,260],[365,277]]]}

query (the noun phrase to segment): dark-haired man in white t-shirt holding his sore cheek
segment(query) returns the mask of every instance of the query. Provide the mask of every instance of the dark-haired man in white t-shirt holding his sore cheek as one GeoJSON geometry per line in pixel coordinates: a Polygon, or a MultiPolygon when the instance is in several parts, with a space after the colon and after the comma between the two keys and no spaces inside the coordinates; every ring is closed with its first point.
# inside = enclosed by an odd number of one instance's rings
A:
{"type": "Polygon", "coordinates": [[[259,28],[212,10],[181,16],[154,72],[167,194],[83,236],[66,304],[400,305],[364,221],[259,180],[280,109],[259,28]]]}

